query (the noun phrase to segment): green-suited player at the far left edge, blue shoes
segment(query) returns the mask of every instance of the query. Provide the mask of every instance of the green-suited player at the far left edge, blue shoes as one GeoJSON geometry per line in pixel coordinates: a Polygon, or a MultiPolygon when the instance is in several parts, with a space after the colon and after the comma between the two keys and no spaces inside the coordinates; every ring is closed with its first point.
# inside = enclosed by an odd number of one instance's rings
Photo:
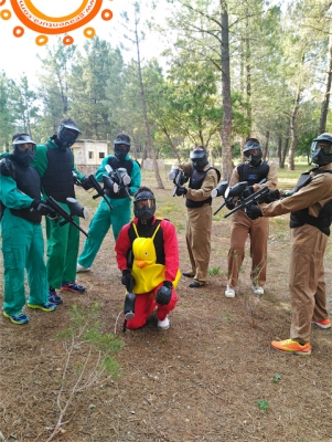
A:
{"type": "Polygon", "coordinates": [[[42,214],[49,209],[41,201],[40,176],[30,166],[35,143],[28,134],[15,134],[12,152],[0,161],[0,203],[4,269],[3,316],[13,324],[26,324],[24,271],[29,283],[28,307],[53,312],[49,303],[47,273],[44,263],[42,214]]]}

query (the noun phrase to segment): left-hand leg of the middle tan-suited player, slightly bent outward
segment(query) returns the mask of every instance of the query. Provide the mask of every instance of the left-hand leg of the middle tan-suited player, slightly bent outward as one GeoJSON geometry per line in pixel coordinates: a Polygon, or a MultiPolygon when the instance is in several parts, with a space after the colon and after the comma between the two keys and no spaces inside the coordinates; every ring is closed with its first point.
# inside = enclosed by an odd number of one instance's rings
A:
{"type": "Polygon", "coordinates": [[[228,251],[228,285],[236,287],[239,269],[245,259],[245,245],[250,227],[250,220],[245,212],[238,210],[233,215],[231,225],[231,246],[228,251]]]}

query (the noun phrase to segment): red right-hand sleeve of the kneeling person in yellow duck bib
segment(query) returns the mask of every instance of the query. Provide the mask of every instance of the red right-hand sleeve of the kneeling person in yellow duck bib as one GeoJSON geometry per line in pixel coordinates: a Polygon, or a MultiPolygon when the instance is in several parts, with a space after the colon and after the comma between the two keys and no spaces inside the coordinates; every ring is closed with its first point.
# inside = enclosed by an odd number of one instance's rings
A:
{"type": "Polygon", "coordinates": [[[179,244],[174,225],[162,220],[160,223],[163,231],[163,249],[165,256],[165,281],[173,282],[179,270],[179,244]]]}

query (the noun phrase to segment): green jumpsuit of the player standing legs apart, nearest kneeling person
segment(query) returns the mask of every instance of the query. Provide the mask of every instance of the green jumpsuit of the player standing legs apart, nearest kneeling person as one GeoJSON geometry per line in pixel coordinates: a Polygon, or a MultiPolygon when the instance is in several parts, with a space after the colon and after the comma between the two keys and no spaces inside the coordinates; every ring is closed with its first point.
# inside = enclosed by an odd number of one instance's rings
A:
{"type": "MultiPolygon", "coordinates": [[[[108,160],[113,155],[109,155],[104,158],[100,167],[95,173],[97,181],[103,181],[103,175],[107,175],[105,166],[108,164],[108,160]]],[[[127,155],[126,160],[128,159],[130,159],[130,157],[127,155]]],[[[136,161],[132,161],[130,178],[131,183],[129,188],[129,193],[133,194],[135,192],[137,192],[138,188],[141,185],[141,171],[139,165],[136,161]]],[[[110,225],[113,225],[114,238],[115,240],[117,240],[121,228],[127,224],[131,219],[131,201],[128,197],[118,199],[108,198],[108,200],[114,210],[110,210],[108,204],[104,200],[101,200],[88,228],[88,238],[85,240],[83,251],[78,259],[78,264],[83,265],[84,267],[92,266],[110,225]]]]}

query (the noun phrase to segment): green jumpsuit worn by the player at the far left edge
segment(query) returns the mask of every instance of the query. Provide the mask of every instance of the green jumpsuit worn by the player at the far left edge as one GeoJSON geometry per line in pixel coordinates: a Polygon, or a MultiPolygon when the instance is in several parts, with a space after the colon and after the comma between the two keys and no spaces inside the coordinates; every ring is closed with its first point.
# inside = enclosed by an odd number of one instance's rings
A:
{"type": "Polygon", "coordinates": [[[44,239],[41,223],[28,221],[10,209],[29,209],[33,199],[22,193],[12,177],[0,175],[0,200],[4,206],[2,254],[4,267],[3,311],[18,315],[25,305],[24,270],[29,283],[29,304],[49,302],[47,274],[44,263],[44,239]]]}

